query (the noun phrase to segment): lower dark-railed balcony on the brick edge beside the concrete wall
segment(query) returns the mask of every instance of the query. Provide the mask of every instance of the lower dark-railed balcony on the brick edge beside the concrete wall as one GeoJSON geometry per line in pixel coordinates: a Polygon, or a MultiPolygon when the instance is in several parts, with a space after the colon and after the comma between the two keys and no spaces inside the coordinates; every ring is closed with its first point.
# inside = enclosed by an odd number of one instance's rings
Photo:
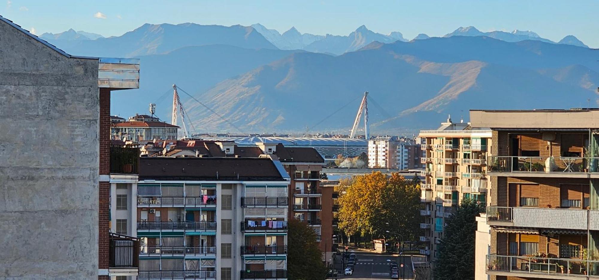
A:
{"type": "Polygon", "coordinates": [[[140,242],[131,236],[110,233],[108,249],[108,274],[128,275],[138,274],[140,261],[140,242]]]}

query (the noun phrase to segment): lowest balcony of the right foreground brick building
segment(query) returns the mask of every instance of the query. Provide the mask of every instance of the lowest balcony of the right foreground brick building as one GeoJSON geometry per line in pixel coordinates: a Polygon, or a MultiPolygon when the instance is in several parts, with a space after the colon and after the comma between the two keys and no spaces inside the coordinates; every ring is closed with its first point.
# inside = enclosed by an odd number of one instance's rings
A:
{"type": "Polygon", "coordinates": [[[486,255],[488,275],[540,279],[587,279],[599,276],[597,260],[537,258],[520,255],[486,255]],[[589,273],[587,273],[589,272],[589,273]],[[588,275],[587,275],[588,274],[588,275]]]}

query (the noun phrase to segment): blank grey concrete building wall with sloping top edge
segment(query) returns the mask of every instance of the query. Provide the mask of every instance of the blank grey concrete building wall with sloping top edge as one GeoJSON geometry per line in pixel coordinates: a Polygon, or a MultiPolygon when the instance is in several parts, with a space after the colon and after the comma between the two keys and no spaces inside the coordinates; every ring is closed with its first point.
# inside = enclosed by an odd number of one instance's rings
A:
{"type": "Polygon", "coordinates": [[[0,22],[0,61],[0,278],[97,278],[98,60],[0,22]]]}

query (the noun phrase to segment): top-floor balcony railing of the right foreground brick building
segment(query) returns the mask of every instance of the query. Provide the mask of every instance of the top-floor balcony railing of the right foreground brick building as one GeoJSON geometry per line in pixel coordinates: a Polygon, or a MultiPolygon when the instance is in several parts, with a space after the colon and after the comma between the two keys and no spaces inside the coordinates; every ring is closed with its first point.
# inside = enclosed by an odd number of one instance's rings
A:
{"type": "Polygon", "coordinates": [[[491,156],[490,172],[587,173],[599,172],[599,157],[491,156]]]}

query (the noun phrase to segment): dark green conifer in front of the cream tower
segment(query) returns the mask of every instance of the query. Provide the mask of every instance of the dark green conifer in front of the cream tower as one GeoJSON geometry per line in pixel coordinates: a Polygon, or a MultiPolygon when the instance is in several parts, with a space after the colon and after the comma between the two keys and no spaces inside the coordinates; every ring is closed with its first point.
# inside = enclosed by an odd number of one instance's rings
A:
{"type": "Polygon", "coordinates": [[[474,279],[474,242],[476,216],[483,211],[474,200],[465,199],[447,221],[437,250],[435,278],[447,280],[474,279]]]}

